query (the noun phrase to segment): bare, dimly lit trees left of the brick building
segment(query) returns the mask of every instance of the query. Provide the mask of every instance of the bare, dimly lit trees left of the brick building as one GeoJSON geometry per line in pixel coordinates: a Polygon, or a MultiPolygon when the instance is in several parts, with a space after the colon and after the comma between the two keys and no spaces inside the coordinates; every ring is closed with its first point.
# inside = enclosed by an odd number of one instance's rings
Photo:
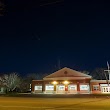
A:
{"type": "Polygon", "coordinates": [[[30,84],[32,80],[41,80],[48,74],[29,73],[22,77],[18,73],[13,72],[0,76],[0,86],[6,88],[5,92],[30,92],[30,84]]]}

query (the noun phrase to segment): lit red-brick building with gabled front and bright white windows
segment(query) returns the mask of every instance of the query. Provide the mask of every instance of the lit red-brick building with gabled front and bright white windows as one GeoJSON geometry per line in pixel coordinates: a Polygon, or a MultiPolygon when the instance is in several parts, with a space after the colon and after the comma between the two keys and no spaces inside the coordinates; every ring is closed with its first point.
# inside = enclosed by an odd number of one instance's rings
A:
{"type": "Polygon", "coordinates": [[[95,94],[110,93],[106,80],[93,80],[92,76],[62,68],[43,80],[32,81],[32,93],[44,94],[95,94]]]}

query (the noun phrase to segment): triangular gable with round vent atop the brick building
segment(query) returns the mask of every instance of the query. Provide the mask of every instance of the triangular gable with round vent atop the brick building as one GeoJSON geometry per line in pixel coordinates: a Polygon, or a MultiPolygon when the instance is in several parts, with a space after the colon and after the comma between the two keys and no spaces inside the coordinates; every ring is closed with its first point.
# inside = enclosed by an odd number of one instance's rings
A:
{"type": "Polygon", "coordinates": [[[65,67],[65,68],[62,68],[62,69],[44,77],[43,79],[47,80],[47,79],[53,79],[53,78],[60,78],[60,79],[62,79],[62,78],[79,78],[80,79],[80,78],[91,78],[91,76],[65,67]]]}

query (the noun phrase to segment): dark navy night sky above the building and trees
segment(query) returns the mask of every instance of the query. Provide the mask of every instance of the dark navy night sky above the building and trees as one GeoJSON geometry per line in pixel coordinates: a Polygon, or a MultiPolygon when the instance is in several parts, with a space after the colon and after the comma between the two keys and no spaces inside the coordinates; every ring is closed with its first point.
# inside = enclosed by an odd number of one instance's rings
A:
{"type": "MultiPolygon", "coordinates": [[[[77,1],[77,0],[76,0],[77,1]]],[[[0,17],[0,73],[92,71],[110,61],[110,3],[7,0],[0,17]]]]}

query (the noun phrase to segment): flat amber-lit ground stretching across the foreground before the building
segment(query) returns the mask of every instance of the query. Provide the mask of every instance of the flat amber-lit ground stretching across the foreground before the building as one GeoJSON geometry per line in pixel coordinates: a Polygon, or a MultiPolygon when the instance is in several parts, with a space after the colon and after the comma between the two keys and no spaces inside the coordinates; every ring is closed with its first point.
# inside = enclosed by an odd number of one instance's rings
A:
{"type": "Polygon", "coordinates": [[[110,98],[0,97],[0,110],[110,110],[110,98]]]}

